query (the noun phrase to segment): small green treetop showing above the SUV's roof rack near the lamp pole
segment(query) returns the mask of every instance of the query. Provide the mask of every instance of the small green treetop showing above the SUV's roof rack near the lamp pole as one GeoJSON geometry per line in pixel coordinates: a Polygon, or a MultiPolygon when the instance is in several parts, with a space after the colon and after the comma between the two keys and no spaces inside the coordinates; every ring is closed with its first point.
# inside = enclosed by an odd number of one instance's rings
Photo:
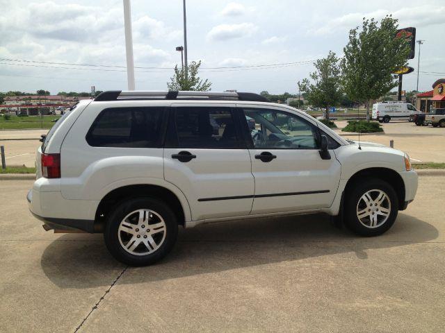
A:
{"type": "Polygon", "coordinates": [[[175,66],[175,74],[170,78],[167,87],[172,91],[186,90],[208,92],[211,90],[211,83],[209,80],[202,80],[197,76],[197,71],[201,66],[201,60],[198,62],[192,61],[188,64],[187,70],[179,69],[175,66]]]}

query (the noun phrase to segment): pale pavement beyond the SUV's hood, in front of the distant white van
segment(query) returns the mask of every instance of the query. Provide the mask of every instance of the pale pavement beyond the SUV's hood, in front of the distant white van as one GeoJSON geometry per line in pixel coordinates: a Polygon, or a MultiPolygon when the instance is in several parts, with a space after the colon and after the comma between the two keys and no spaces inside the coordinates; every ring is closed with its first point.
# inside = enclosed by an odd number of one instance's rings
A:
{"type": "MultiPolygon", "coordinates": [[[[346,121],[335,121],[339,128],[345,127],[346,121]]],[[[394,148],[407,152],[412,162],[445,162],[445,128],[432,126],[416,126],[408,121],[390,121],[382,123],[385,135],[364,135],[362,141],[376,142],[389,146],[394,140],[394,148]]],[[[336,130],[344,138],[357,141],[357,133],[348,133],[336,130]]]]}

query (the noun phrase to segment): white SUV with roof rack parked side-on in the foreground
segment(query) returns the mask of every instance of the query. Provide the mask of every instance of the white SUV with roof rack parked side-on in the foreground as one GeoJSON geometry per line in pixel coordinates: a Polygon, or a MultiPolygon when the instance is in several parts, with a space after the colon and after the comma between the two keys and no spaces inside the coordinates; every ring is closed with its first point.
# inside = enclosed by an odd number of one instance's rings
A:
{"type": "Polygon", "coordinates": [[[103,232],[135,266],[164,257],[178,225],[324,212],[382,234],[417,189],[403,152],[250,93],[103,92],[42,141],[31,212],[45,230],[103,232]]]}

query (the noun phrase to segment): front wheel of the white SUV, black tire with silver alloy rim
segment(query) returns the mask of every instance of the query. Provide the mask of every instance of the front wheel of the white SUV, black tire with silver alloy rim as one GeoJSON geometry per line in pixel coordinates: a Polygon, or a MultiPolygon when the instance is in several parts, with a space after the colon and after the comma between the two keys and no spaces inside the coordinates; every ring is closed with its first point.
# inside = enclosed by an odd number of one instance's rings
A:
{"type": "Polygon", "coordinates": [[[346,193],[345,225],[356,234],[366,237],[383,234],[394,224],[397,214],[398,198],[396,191],[383,180],[378,178],[359,180],[346,193]],[[382,193],[385,196],[381,196],[382,193]],[[371,196],[370,202],[368,201],[369,205],[366,203],[366,198],[364,199],[365,194],[371,196]],[[382,202],[375,203],[379,198],[383,198],[382,202]],[[362,214],[359,214],[359,212],[362,212],[362,214]]]}

